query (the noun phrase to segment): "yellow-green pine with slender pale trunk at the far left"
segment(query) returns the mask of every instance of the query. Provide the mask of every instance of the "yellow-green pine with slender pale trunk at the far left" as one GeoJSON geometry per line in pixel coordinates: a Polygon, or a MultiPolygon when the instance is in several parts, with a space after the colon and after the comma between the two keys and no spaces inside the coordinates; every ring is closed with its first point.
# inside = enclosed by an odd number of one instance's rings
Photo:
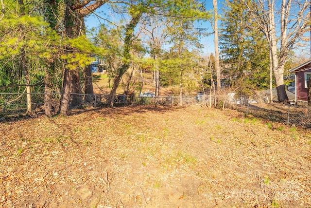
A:
{"type": "Polygon", "coordinates": [[[11,79],[7,84],[10,85],[10,92],[13,89],[19,92],[20,88],[25,87],[28,111],[32,110],[31,89],[38,86],[36,82],[42,84],[42,60],[50,56],[47,40],[51,38],[51,33],[38,12],[41,6],[36,1],[7,2],[0,25],[0,61],[11,79]]]}

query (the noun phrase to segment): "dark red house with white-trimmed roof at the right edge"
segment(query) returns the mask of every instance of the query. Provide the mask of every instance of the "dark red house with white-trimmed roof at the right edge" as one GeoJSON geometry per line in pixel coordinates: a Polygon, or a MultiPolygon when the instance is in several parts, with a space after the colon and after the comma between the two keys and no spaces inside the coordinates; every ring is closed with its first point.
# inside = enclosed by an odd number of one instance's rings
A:
{"type": "Polygon", "coordinates": [[[308,105],[308,81],[311,76],[311,60],[291,69],[290,73],[295,73],[296,103],[308,105]]]}

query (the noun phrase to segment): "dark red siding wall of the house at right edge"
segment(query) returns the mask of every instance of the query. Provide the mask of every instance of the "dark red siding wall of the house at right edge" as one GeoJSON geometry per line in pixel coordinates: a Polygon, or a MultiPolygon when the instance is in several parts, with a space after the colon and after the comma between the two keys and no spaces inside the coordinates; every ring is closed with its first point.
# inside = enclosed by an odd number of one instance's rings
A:
{"type": "Polygon", "coordinates": [[[305,72],[311,72],[310,66],[304,66],[296,72],[296,93],[297,100],[308,101],[308,89],[305,88],[305,72]],[[308,69],[309,68],[309,69],[308,69]]]}

